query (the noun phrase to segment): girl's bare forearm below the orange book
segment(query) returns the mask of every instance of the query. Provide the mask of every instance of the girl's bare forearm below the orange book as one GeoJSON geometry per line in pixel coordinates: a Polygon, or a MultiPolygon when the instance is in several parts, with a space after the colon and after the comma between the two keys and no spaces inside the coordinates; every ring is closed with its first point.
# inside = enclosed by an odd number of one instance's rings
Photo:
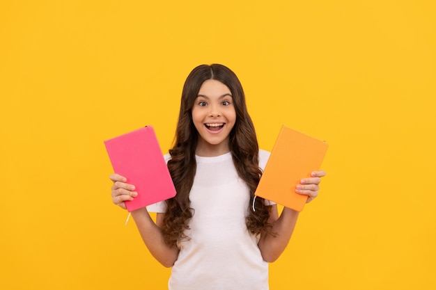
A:
{"type": "Polygon", "coordinates": [[[277,260],[285,250],[294,232],[298,214],[298,211],[284,207],[280,217],[273,223],[272,227],[272,233],[276,233],[277,236],[267,233],[261,236],[258,246],[265,261],[277,260]]]}

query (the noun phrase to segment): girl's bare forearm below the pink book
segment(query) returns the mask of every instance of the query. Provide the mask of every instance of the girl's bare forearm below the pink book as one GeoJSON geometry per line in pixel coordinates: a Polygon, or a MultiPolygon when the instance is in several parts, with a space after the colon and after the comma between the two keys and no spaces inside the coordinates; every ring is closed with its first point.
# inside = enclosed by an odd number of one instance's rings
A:
{"type": "Polygon", "coordinates": [[[166,245],[162,229],[155,224],[148,211],[145,208],[132,211],[132,218],[137,224],[142,240],[151,255],[163,266],[173,266],[179,250],[176,246],[169,247],[169,245],[166,245]]]}

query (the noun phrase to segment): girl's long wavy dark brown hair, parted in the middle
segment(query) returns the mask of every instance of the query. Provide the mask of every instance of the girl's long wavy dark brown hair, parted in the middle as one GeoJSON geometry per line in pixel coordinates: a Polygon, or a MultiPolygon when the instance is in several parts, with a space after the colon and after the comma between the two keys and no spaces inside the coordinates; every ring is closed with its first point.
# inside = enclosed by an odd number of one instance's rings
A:
{"type": "Polygon", "coordinates": [[[256,211],[251,209],[262,171],[258,166],[259,147],[256,132],[247,111],[242,85],[238,76],[224,65],[199,65],[192,70],[183,86],[176,136],[173,147],[169,150],[171,160],[168,162],[168,168],[177,194],[174,198],[166,200],[167,210],[162,231],[168,245],[176,245],[178,239],[189,239],[184,232],[185,229],[189,229],[189,219],[194,215],[194,210],[190,207],[189,192],[196,173],[195,150],[198,142],[198,132],[192,122],[192,107],[201,85],[208,79],[224,83],[233,97],[236,122],[229,136],[229,147],[238,175],[250,190],[247,229],[252,234],[270,232],[271,229],[271,225],[267,223],[270,207],[265,205],[265,200],[257,197],[256,211]]]}

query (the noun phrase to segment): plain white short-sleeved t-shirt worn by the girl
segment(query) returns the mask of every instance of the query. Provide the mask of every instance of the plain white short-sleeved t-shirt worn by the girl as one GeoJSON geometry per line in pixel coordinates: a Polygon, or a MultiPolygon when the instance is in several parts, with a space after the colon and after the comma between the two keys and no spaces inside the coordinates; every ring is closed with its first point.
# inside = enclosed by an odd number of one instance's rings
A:
{"type": "MultiPolygon", "coordinates": [[[[270,153],[259,151],[259,167],[270,153]]],[[[169,159],[169,156],[165,156],[169,159]]],[[[189,199],[194,216],[178,241],[180,252],[171,269],[169,290],[266,290],[268,263],[258,248],[258,236],[247,230],[249,188],[240,179],[231,153],[196,156],[196,175],[189,199]]],[[[148,207],[165,212],[165,202],[148,207]]]]}

